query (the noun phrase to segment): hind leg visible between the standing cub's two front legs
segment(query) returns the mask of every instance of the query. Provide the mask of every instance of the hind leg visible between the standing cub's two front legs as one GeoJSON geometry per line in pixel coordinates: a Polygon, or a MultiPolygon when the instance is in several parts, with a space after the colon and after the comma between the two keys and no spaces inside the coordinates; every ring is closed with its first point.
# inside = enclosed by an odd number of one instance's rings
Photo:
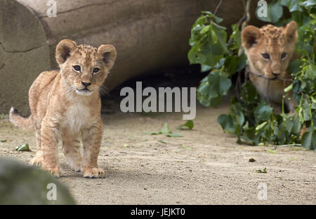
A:
{"type": "Polygon", "coordinates": [[[65,154],[65,158],[72,168],[77,172],[81,171],[81,154],[80,154],[81,143],[79,138],[77,139],[67,139],[67,137],[62,137],[62,151],[65,154]]]}

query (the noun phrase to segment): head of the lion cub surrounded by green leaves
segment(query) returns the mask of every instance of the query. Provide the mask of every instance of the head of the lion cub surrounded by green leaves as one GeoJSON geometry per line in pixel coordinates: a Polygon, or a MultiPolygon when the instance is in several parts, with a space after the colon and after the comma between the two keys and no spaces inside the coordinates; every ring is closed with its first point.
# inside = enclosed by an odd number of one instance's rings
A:
{"type": "Polygon", "coordinates": [[[242,31],[242,46],[249,60],[249,67],[256,75],[268,79],[286,77],[286,70],[297,42],[296,22],[286,26],[247,26],[242,31]]]}

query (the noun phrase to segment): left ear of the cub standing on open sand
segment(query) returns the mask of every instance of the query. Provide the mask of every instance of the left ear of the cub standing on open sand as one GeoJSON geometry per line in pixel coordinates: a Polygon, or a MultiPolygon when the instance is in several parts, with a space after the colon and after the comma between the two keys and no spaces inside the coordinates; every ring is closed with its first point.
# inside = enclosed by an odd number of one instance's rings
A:
{"type": "Polygon", "coordinates": [[[56,61],[58,64],[65,63],[72,51],[77,49],[77,44],[70,39],[62,39],[56,46],[56,61]]]}

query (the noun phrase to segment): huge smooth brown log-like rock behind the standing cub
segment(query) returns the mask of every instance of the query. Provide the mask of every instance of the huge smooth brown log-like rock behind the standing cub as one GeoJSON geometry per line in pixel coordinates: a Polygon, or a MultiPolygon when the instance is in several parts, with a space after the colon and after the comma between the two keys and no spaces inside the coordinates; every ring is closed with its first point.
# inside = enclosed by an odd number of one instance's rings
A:
{"type": "MultiPolygon", "coordinates": [[[[28,88],[41,71],[57,67],[60,39],[117,47],[117,62],[105,82],[109,90],[147,71],[188,65],[190,28],[201,11],[215,11],[219,1],[55,0],[56,17],[46,13],[49,2],[0,1],[0,113],[11,106],[29,112],[28,88]]],[[[216,15],[229,27],[243,12],[242,1],[223,1],[216,15]]]]}

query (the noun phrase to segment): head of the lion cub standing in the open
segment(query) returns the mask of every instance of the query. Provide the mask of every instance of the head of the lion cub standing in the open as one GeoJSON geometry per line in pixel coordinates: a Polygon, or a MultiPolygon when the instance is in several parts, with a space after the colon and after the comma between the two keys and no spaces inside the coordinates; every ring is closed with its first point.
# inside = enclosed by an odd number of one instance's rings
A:
{"type": "Polygon", "coordinates": [[[62,39],[56,46],[56,60],[62,77],[72,90],[84,96],[98,92],[116,57],[117,51],[112,45],[101,45],[97,49],[62,39]]]}

